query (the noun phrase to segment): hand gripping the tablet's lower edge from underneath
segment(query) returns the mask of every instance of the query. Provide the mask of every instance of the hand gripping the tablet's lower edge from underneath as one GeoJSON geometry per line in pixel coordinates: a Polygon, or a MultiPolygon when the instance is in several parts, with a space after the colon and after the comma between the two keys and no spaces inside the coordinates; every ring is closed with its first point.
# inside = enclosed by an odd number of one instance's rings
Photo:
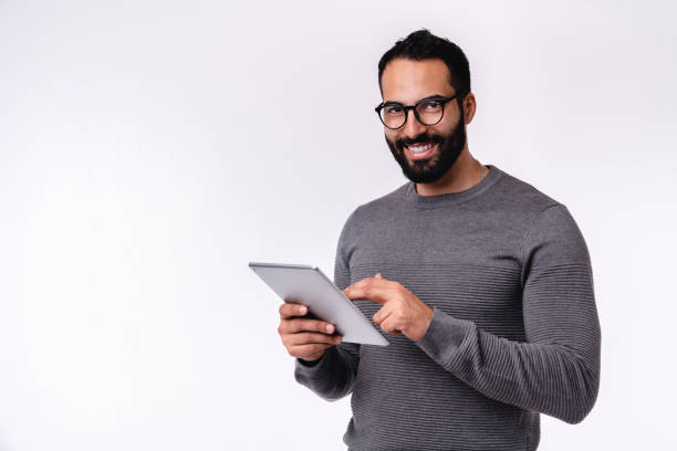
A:
{"type": "Polygon", "coordinates": [[[320,359],[327,348],[341,343],[343,337],[333,335],[336,327],[326,321],[299,317],[308,313],[308,306],[285,302],[280,306],[278,333],[290,356],[313,361],[320,359]]]}

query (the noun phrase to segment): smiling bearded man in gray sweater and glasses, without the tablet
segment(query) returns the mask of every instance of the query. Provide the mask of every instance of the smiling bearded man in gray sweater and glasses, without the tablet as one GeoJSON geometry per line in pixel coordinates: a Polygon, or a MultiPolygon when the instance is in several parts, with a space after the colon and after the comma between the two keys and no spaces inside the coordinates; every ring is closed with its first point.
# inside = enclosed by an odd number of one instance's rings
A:
{"type": "Polygon", "coordinates": [[[597,397],[583,235],[564,204],[470,155],[476,99],[457,45],[416,31],[378,76],[409,181],[348,217],[334,282],[389,345],[341,343],[283,304],[295,379],[326,400],[352,394],[350,450],[535,450],[540,413],[577,423],[597,397]]]}

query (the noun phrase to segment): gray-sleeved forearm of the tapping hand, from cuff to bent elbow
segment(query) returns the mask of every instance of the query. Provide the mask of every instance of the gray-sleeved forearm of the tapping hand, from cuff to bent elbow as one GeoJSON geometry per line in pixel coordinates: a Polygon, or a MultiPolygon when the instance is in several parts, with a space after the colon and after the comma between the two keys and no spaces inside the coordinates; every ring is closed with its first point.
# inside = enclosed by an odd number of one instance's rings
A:
{"type": "Polygon", "coordinates": [[[586,352],[514,342],[435,308],[416,344],[489,398],[576,423],[592,409],[600,384],[598,328],[582,333],[590,337],[586,352]]]}

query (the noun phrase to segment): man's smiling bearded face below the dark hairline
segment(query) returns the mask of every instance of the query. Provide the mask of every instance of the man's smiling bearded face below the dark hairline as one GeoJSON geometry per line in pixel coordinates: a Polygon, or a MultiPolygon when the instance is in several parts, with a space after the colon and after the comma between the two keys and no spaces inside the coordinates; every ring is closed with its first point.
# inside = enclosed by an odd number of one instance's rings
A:
{"type": "MultiPolygon", "coordinates": [[[[381,84],[384,102],[404,105],[414,105],[431,95],[450,97],[456,94],[449,84],[449,70],[441,60],[393,60],[383,71],[381,84]]],[[[442,119],[435,125],[419,123],[409,111],[403,127],[384,129],[393,157],[405,177],[416,183],[430,183],[441,178],[466,146],[464,112],[456,98],[445,105],[442,119]],[[426,147],[430,148],[414,153],[426,147]]]]}

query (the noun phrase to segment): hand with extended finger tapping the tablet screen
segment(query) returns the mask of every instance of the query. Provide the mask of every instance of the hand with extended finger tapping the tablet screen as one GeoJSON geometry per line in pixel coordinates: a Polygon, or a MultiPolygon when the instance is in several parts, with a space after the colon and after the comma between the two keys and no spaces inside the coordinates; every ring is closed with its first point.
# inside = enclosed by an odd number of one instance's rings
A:
{"type": "Polygon", "coordinates": [[[399,282],[383,279],[381,273],[348,285],[343,294],[350,300],[383,304],[372,318],[374,323],[387,334],[404,334],[414,342],[423,338],[433,318],[433,308],[399,282]]]}

